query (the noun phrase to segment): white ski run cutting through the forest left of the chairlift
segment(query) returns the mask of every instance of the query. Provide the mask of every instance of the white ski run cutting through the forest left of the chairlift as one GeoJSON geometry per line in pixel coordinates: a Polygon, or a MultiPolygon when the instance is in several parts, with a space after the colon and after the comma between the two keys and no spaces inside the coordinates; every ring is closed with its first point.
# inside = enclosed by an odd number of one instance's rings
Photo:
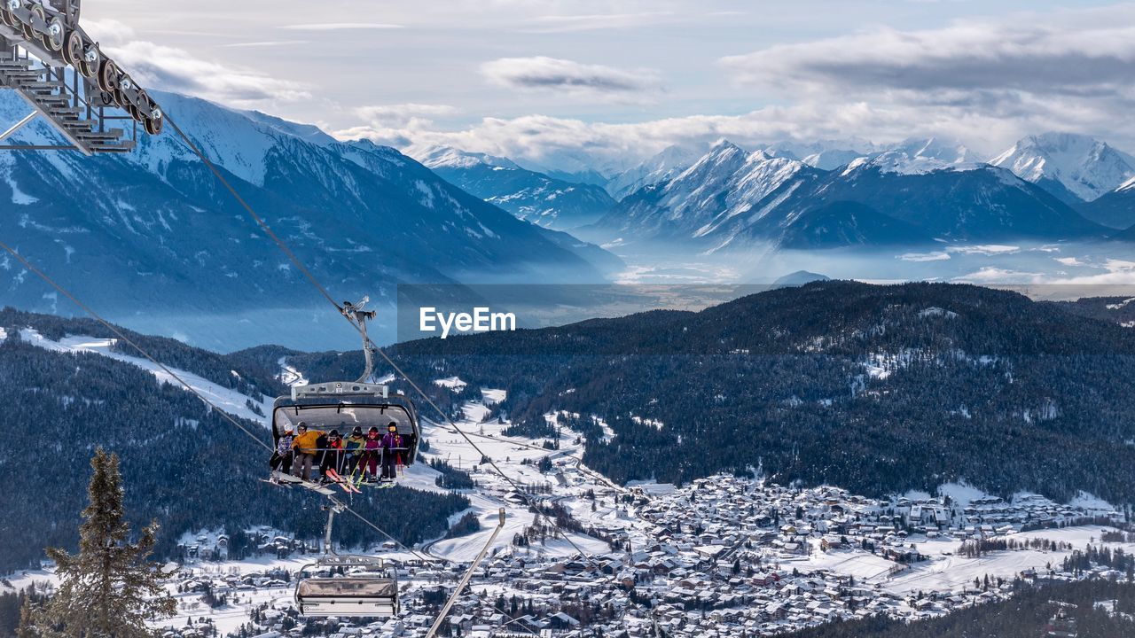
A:
{"type": "MultiPolygon", "coordinates": [[[[161,369],[153,361],[144,359],[141,356],[131,356],[128,354],[121,354],[110,350],[117,339],[104,339],[95,337],[85,336],[67,336],[60,341],[51,341],[37,330],[33,328],[24,328],[19,331],[19,338],[32,345],[42,347],[44,350],[50,350],[54,352],[87,352],[92,354],[99,354],[101,356],[108,356],[117,361],[123,361],[136,366],[151,372],[159,384],[170,384],[178,388],[184,386],[177,381],[169,372],[161,369]]],[[[190,384],[190,387],[201,393],[202,396],[211,401],[215,405],[241,419],[247,419],[250,421],[255,421],[258,423],[268,427],[268,414],[272,410],[272,398],[264,398],[263,401],[257,401],[252,397],[241,394],[235,389],[219,386],[204,377],[194,375],[193,372],[186,372],[185,370],[178,370],[174,367],[167,366],[174,375],[180,377],[182,380],[190,384]],[[257,414],[250,405],[255,405],[260,410],[260,414],[257,414]]],[[[234,375],[236,372],[233,372],[234,375]]]]}

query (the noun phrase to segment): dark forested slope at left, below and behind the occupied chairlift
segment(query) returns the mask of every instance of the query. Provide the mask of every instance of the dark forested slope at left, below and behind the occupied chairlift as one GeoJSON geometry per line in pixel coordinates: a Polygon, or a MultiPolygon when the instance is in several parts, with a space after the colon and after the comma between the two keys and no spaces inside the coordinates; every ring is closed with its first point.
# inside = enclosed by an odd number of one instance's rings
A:
{"type": "MultiPolygon", "coordinates": [[[[99,334],[95,326],[10,312],[0,318],[7,331],[0,342],[0,384],[8,394],[0,415],[0,573],[37,563],[45,545],[74,547],[89,461],[100,445],[121,456],[135,529],[161,519],[161,555],[171,554],[182,532],[202,528],[232,532],[271,524],[311,540],[321,532],[321,497],[258,480],[268,473],[266,451],[190,393],[159,386],[153,375],[129,363],[50,352],[17,336],[28,325],[54,338],[99,334]]],[[[225,358],[170,339],[150,339],[145,347],[217,383],[278,385],[264,369],[237,368],[238,379],[225,358]]],[[[270,440],[263,426],[246,425],[270,440]]],[[[395,488],[367,492],[355,497],[354,506],[412,543],[444,532],[446,518],[468,502],[395,488]]],[[[384,540],[350,517],[336,526],[336,537],[347,544],[384,540]]]]}

